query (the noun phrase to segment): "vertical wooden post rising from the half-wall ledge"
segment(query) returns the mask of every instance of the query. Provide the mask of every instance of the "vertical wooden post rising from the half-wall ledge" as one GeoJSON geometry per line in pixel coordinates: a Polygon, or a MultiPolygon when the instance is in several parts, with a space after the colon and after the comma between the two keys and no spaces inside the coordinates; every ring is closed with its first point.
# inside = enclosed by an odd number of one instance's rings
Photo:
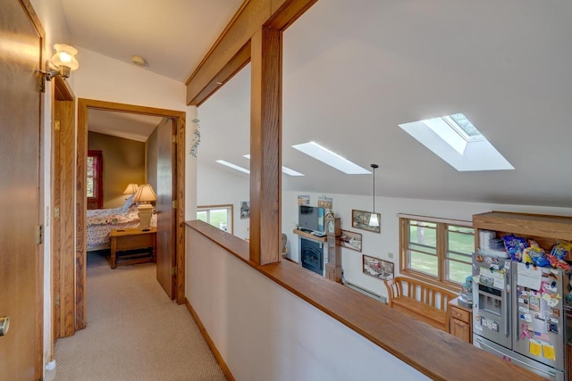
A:
{"type": "Polygon", "coordinates": [[[282,31],[251,39],[250,260],[280,261],[282,190],[282,31]]]}

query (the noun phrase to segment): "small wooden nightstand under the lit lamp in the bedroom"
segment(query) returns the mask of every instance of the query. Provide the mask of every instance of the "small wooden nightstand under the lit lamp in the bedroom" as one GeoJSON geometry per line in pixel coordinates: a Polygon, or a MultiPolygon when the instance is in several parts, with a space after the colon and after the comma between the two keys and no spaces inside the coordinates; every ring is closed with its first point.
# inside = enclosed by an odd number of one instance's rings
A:
{"type": "Polygon", "coordinates": [[[115,229],[111,236],[111,258],[109,265],[131,265],[156,261],[157,228],[115,229]],[[117,254],[120,253],[118,256],[117,254]]]}

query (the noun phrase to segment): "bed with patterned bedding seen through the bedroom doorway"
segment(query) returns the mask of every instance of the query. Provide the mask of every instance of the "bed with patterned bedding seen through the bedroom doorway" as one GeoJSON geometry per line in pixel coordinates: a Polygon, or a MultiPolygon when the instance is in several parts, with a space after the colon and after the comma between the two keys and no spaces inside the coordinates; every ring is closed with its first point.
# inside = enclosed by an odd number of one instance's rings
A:
{"type": "MultiPolygon", "coordinates": [[[[156,214],[151,218],[151,226],[157,226],[156,214]]],[[[139,212],[133,195],[119,208],[88,210],[88,252],[109,249],[109,233],[122,228],[139,228],[139,212]]]]}

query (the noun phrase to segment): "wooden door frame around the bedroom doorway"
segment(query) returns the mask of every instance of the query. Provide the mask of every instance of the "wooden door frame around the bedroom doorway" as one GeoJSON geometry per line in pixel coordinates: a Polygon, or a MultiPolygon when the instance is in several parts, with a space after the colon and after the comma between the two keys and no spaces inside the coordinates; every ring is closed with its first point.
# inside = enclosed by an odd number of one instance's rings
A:
{"type": "Polygon", "coordinates": [[[88,111],[102,110],[111,112],[128,112],[140,115],[172,118],[177,128],[176,148],[176,223],[175,223],[175,300],[178,304],[185,302],[185,125],[186,112],[139,106],[134,104],[118,104],[94,99],[78,99],[78,135],[76,142],[76,329],[86,327],[86,162],[88,153],[88,111]]]}

